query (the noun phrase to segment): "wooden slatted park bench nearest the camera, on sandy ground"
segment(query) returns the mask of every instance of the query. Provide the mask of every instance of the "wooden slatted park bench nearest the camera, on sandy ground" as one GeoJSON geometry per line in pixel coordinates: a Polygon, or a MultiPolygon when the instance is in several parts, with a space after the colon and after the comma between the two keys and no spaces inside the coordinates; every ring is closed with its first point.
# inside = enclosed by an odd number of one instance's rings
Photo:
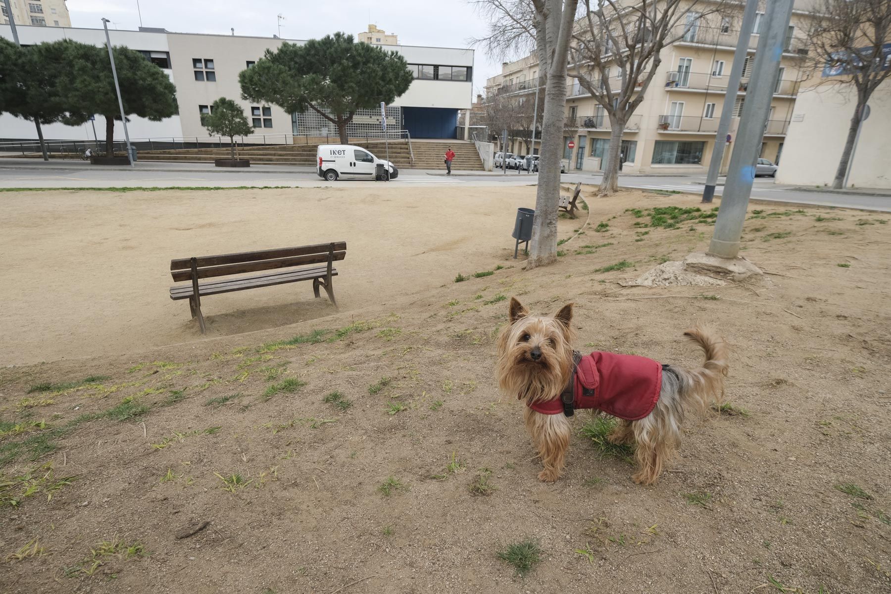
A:
{"type": "Polygon", "coordinates": [[[319,287],[323,287],[328,293],[331,303],[337,307],[337,301],[334,300],[334,287],[331,285],[332,277],[337,276],[337,269],[332,264],[335,260],[342,260],[345,256],[347,256],[347,242],[337,241],[297,248],[263,249],[255,252],[241,252],[240,254],[178,258],[170,261],[170,275],[173,276],[174,282],[191,282],[171,287],[170,298],[175,301],[178,299],[189,300],[192,318],[198,318],[201,334],[205,332],[204,316],[201,314],[201,297],[218,293],[272,287],[288,282],[313,281],[315,297],[319,297],[319,287]],[[275,272],[199,282],[200,279],[233,277],[236,274],[256,273],[261,270],[274,270],[275,272]]]}

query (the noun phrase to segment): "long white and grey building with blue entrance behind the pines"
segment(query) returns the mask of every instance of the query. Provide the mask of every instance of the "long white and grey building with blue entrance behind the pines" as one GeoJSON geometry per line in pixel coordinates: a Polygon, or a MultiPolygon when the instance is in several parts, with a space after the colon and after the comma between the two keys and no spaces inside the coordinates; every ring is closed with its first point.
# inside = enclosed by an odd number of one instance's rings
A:
{"type": "MultiPolygon", "coordinates": [[[[17,27],[22,45],[34,45],[59,39],[93,44],[105,44],[101,28],[17,27]]],[[[139,31],[110,30],[112,45],[125,45],[138,50],[146,59],[157,64],[176,85],[179,114],[160,122],[131,118],[130,137],[160,141],[200,138],[207,131],[200,124],[200,114],[220,97],[239,102],[256,129],[253,142],[262,136],[277,135],[277,143],[290,142],[294,135],[318,135],[327,126],[336,135],[336,127],[308,115],[286,113],[274,105],[255,105],[241,99],[238,75],[263,56],[267,49],[275,49],[288,41],[303,44],[297,39],[277,37],[241,37],[233,35],[199,35],[170,33],[164,29],[142,28],[139,31]]],[[[0,25],[0,37],[12,39],[8,25],[0,25]]],[[[473,50],[413,45],[388,45],[385,49],[401,53],[415,80],[408,90],[388,109],[388,127],[408,130],[413,138],[455,138],[458,110],[468,110],[473,95],[473,50]]],[[[357,130],[380,128],[380,110],[356,114],[357,130]],[[375,117],[375,114],[378,114],[375,117]],[[363,127],[364,126],[364,127],[363,127]]],[[[102,121],[100,121],[102,126],[102,121]]],[[[92,140],[93,128],[86,126],[43,126],[47,140],[92,140]]],[[[102,129],[98,130],[102,140],[102,129]]],[[[123,136],[119,126],[117,132],[123,136]]],[[[358,134],[356,134],[358,135],[358,134]]],[[[33,123],[0,115],[0,142],[34,140],[33,123]]]]}

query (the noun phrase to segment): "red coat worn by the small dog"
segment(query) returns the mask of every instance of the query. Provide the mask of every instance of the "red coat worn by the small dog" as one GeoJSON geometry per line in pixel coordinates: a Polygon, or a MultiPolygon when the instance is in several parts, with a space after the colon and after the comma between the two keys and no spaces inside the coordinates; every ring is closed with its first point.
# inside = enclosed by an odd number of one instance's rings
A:
{"type": "MultiPolygon", "coordinates": [[[[559,397],[528,403],[533,411],[571,417],[575,409],[598,409],[625,420],[643,419],[659,399],[667,365],[634,354],[573,352],[573,370],[559,397]]],[[[674,373],[668,369],[669,372],[674,373]]]]}

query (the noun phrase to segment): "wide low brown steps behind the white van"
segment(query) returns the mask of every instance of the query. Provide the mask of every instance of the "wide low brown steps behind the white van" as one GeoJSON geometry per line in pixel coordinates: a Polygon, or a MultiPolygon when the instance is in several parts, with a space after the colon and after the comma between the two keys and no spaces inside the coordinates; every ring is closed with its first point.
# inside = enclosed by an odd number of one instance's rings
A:
{"type": "MultiPolygon", "coordinates": [[[[372,152],[378,159],[387,158],[387,147],[383,141],[352,142],[356,146],[372,152]]],[[[455,158],[452,168],[455,171],[482,171],[483,164],[472,142],[464,141],[413,141],[409,151],[408,142],[390,141],[389,160],[400,169],[445,169],[446,148],[452,147],[455,158]]],[[[315,144],[285,144],[279,146],[239,147],[241,159],[250,159],[257,165],[290,165],[315,167],[315,144]]],[[[228,159],[230,151],[222,149],[176,149],[169,151],[140,151],[141,161],[173,162],[212,162],[214,159],[228,159]]]]}

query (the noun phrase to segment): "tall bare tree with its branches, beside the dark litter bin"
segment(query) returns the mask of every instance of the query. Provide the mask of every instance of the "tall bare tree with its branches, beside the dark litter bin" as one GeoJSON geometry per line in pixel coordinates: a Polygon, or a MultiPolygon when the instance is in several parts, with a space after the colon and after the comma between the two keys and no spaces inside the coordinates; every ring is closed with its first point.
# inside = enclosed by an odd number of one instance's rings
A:
{"type": "Polygon", "coordinates": [[[542,150],[535,221],[527,268],[557,260],[560,149],[566,109],[566,68],[578,0],[471,0],[489,21],[487,37],[476,39],[493,55],[535,47],[544,77],[542,150]]]}

